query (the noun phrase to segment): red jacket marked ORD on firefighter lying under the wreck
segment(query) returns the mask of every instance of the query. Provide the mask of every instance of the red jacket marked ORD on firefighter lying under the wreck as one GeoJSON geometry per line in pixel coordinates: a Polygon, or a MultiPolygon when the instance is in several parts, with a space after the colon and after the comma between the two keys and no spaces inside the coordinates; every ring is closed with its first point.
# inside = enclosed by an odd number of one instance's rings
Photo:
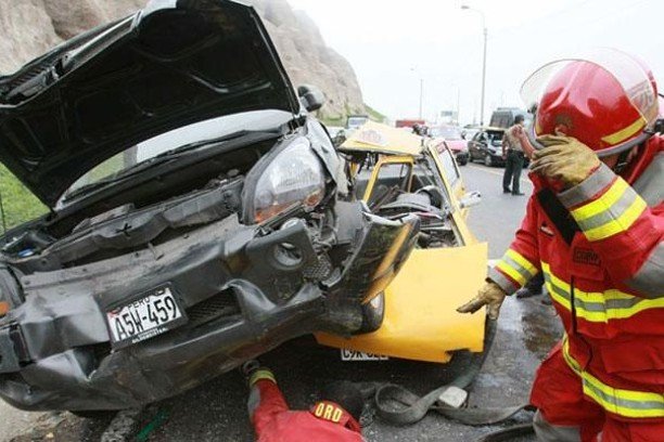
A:
{"type": "Polygon", "coordinates": [[[361,442],[357,420],[333,402],[310,411],[290,411],[274,382],[258,380],[250,394],[250,415],[258,442],[361,442]]]}

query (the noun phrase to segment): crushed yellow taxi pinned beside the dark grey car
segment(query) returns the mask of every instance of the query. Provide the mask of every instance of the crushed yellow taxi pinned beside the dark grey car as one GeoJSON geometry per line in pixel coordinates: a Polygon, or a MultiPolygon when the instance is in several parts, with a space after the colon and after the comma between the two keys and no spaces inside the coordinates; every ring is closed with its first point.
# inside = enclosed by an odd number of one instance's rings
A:
{"type": "Polygon", "coordinates": [[[362,354],[446,363],[452,352],[482,352],[484,315],[457,313],[487,269],[487,245],[469,230],[467,193],[449,150],[401,129],[367,122],[339,147],[350,188],[381,217],[420,218],[417,246],[398,275],[363,306],[353,336],[317,334],[319,343],[362,354]]]}

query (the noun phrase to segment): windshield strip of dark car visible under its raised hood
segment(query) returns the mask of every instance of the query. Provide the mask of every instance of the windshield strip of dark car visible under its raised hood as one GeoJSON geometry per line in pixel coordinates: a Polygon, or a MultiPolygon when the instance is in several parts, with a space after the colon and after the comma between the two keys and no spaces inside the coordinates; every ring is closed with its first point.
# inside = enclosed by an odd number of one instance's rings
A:
{"type": "Polygon", "coordinates": [[[125,170],[180,146],[216,140],[242,130],[267,131],[280,127],[291,118],[292,114],[283,110],[253,110],[213,118],[162,133],[112,156],[89,170],[65,191],[59,206],[67,196],[82,187],[122,174],[125,170]]]}

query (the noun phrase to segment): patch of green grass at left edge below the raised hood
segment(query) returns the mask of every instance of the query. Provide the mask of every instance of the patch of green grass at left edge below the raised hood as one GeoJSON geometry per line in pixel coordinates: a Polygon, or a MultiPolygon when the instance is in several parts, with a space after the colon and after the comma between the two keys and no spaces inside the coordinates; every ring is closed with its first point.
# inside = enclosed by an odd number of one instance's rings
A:
{"type": "Polygon", "coordinates": [[[34,220],[49,209],[3,165],[0,164],[0,197],[2,198],[2,223],[0,230],[12,229],[34,220]]]}

